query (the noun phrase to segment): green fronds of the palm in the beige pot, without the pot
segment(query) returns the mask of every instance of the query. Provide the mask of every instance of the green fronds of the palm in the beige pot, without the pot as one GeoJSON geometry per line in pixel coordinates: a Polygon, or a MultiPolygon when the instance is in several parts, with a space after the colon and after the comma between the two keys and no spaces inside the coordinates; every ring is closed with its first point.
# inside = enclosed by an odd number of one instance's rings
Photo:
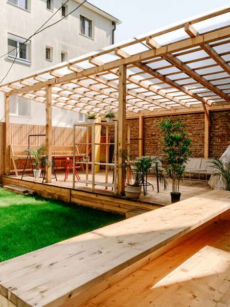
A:
{"type": "Polygon", "coordinates": [[[124,160],[124,163],[122,163],[120,166],[123,167],[125,172],[130,171],[134,178],[134,183],[132,186],[142,186],[144,177],[151,170],[154,176],[158,177],[160,184],[164,184],[164,188],[166,189],[168,183],[164,176],[163,170],[160,170],[157,167],[159,159],[151,157],[133,159],[126,150],[119,151],[118,155],[124,160]]]}

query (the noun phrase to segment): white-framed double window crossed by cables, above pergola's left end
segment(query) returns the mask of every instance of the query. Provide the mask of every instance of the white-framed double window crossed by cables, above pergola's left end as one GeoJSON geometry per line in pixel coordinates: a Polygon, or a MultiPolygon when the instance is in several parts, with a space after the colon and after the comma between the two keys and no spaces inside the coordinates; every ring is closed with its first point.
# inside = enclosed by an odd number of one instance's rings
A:
{"type": "Polygon", "coordinates": [[[16,57],[19,61],[30,62],[30,40],[8,34],[8,58],[16,57]]]}

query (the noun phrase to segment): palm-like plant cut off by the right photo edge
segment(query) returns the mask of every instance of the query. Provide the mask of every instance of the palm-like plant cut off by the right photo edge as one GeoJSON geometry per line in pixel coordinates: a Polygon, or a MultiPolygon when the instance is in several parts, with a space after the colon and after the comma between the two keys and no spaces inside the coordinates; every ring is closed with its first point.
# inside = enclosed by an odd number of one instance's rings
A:
{"type": "Polygon", "coordinates": [[[230,161],[223,162],[220,159],[211,159],[210,163],[211,167],[215,169],[213,176],[217,176],[219,179],[222,178],[225,190],[230,191],[230,161]]]}

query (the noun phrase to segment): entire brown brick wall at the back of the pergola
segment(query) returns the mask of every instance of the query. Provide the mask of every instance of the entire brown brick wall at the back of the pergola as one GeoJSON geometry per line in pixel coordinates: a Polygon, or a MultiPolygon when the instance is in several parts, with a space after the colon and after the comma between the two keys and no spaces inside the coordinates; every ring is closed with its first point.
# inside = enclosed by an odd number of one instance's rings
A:
{"type": "MultiPolygon", "coordinates": [[[[158,122],[165,117],[144,118],[144,153],[151,156],[163,156],[161,132],[158,122]]],[[[188,137],[192,141],[191,149],[193,157],[204,156],[204,114],[195,113],[188,115],[173,115],[173,120],[181,119],[187,126],[188,137]]],[[[212,127],[210,130],[210,157],[220,157],[230,144],[230,112],[221,111],[211,113],[212,127]]],[[[129,119],[126,121],[130,125],[132,157],[139,156],[139,119],[129,119]],[[133,140],[135,139],[135,140],[133,140]]],[[[105,135],[105,131],[102,130],[105,135]]],[[[114,129],[110,128],[109,135],[111,142],[114,140],[114,129]]],[[[127,143],[127,125],[126,125],[127,143]]]]}

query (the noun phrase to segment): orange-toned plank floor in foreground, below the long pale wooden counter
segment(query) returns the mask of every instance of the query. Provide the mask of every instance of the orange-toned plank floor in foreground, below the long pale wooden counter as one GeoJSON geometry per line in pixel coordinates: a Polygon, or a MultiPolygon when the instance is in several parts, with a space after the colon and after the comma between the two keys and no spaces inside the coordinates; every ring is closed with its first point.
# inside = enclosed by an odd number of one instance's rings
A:
{"type": "Polygon", "coordinates": [[[197,233],[82,307],[229,307],[230,221],[197,233]]]}

